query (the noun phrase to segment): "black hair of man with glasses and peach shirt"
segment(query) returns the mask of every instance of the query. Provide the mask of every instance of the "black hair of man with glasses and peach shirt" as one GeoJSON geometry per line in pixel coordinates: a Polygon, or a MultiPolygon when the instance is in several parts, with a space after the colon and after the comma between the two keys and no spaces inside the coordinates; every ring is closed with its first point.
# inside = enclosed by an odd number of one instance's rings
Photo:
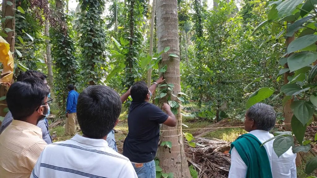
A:
{"type": "Polygon", "coordinates": [[[13,118],[24,121],[44,103],[48,94],[49,88],[43,81],[33,77],[13,83],[7,93],[7,104],[13,118]]]}

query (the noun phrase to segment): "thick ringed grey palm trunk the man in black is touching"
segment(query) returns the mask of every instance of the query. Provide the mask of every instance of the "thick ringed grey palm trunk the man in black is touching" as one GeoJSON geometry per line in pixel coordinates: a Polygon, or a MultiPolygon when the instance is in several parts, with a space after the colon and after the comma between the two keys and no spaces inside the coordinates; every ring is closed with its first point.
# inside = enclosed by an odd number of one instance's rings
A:
{"type": "MultiPolygon", "coordinates": [[[[164,50],[165,47],[170,47],[170,50],[162,54],[162,61],[160,67],[167,65],[167,71],[164,76],[167,83],[174,84],[172,93],[175,95],[181,91],[180,87],[180,59],[176,57],[169,57],[170,53],[175,53],[179,56],[179,38],[178,38],[178,15],[177,15],[177,0],[159,0],[157,2],[157,34],[158,34],[158,48],[159,51],[164,50]]],[[[174,96],[170,96],[171,100],[178,102],[174,96]]],[[[167,102],[167,97],[160,100],[160,103],[167,102]]],[[[184,151],[184,137],[182,131],[182,115],[180,114],[180,107],[178,107],[178,114],[176,127],[162,126],[165,131],[162,134],[163,141],[172,142],[172,148],[169,152],[167,148],[159,146],[158,157],[160,166],[165,173],[172,172],[174,178],[188,178],[191,177],[188,163],[184,151]],[[171,136],[171,137],[169,137],[171,136]]]]}

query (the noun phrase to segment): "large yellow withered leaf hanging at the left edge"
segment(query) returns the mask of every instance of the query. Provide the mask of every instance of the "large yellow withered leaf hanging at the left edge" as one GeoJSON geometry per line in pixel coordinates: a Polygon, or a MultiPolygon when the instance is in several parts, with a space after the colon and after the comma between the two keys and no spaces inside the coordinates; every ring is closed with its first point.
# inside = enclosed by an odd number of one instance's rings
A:
{"type": "Polygon", "coordinates": [[[0,62],[3,65],[0,84],[10,86],[13,77],[14,62],[10,51],[10,45],[0,36],[0,62]]]}

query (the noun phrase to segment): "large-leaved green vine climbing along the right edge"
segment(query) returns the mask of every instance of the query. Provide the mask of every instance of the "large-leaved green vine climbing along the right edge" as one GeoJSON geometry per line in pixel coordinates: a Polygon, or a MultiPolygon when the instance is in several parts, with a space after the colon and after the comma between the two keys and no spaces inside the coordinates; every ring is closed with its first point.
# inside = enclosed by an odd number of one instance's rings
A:
{"type": "MultiPolygon", "coordinates": [[[[268,19],[254,30],[256,34],[257,30],[266,25],[275,26],[277,24],[281,32],[272,40],[283,41],[286,39],[286,51],[280,59],[283,68],[279,73],[279,75],[284,73],[284,85],[281,87],[281,93],[284,93],[282,105],[284,105],[284,111],[290,111],[294,114],[290,119],[291,123],[288,124],[291,124],[297,141],[294,143],[292,135],[280,134],[277,136],[273,148],[278,156],[285,153],[291,146],[293,146],[294,153],[307,152],[310,149],[310,143],[315,141],[305,140],[305,131],[307,126],[311,124],[316,110],[316,4],[315,0],[270,1],[267,4],[270,8],[268,19]],[[287,103],[288,105],[286,105],[287,103]]],[[[271,91],[267,90],[263,93],[262,99],[271,96],[271,91]]],[[[276,98],[278,97],[273,99],[276,98]]],[[[249,105],[254,104],[254,102],[249,103],[249,105]]],[[[284,114],[288,114],[288,112],[284,114]]],[[[302,174],[301,177],[312,174],[316,168],[317,162],[316,157],[314,157],[307,162],[306,174],[302,174]]]]}

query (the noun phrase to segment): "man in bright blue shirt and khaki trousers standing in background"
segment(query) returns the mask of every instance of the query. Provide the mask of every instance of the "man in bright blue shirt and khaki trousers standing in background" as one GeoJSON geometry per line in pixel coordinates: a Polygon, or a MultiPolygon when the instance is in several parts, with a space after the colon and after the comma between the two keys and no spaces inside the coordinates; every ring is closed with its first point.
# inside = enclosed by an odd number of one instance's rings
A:
{"type": "Polygon", "coordinates": [[[65,134],[75,135],[76,106],[79,94],[74,90],[74,85],[68,85],[68,97],[66,106],[65,134]]]}

